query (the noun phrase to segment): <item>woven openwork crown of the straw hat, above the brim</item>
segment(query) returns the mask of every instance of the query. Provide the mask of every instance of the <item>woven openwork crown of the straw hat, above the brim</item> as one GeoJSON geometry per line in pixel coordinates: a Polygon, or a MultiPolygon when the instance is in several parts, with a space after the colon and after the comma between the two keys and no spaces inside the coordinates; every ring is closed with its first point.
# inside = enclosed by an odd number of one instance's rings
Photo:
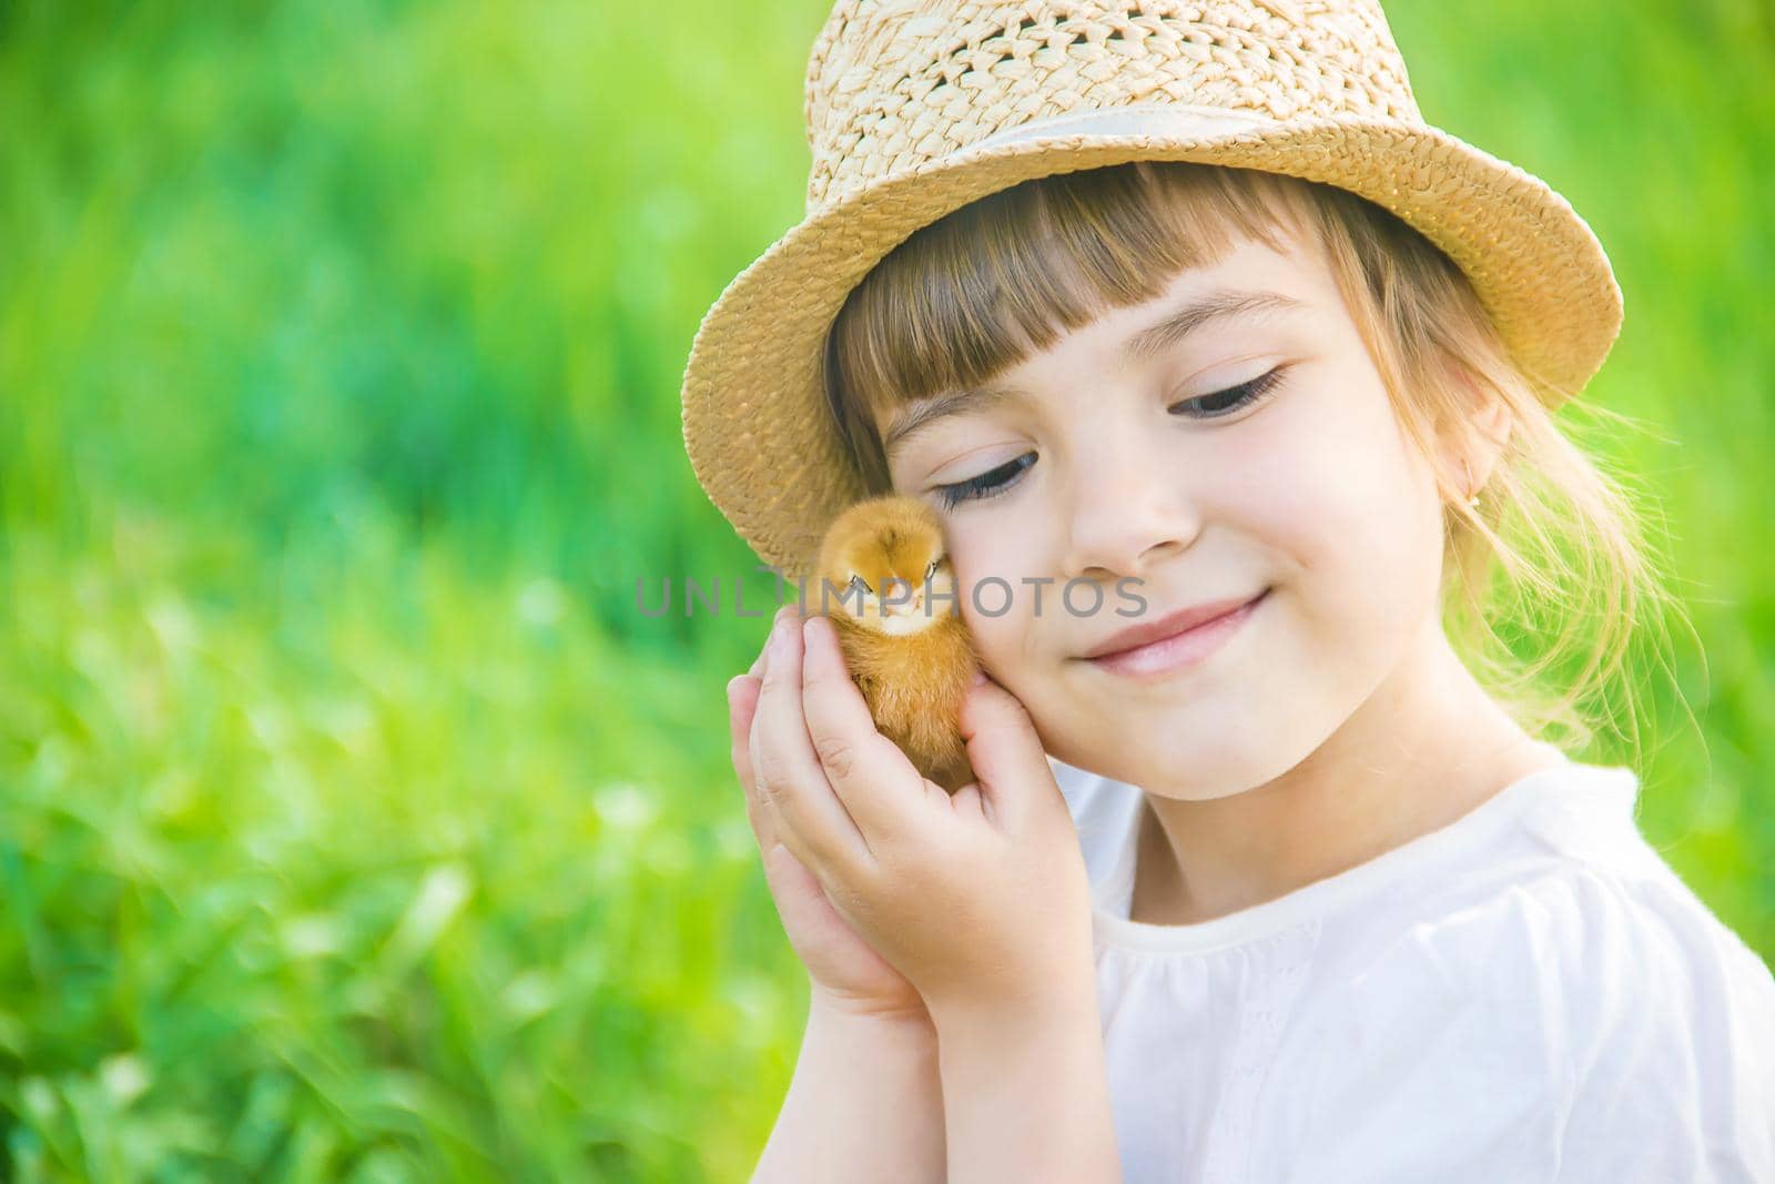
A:
{"type": "Polygon", "coordinates": [[[1422,122],[1374,0],[840,0],[808,60],[808,211],[1033,121],[1132,105],[1422,122]]]}

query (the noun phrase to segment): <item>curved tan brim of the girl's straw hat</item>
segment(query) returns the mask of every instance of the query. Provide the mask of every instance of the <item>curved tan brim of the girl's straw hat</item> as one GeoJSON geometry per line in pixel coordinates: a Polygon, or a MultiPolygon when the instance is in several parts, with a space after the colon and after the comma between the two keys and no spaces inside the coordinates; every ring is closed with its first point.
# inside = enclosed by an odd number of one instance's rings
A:
{"type": "Polygon", "coordinates": [[[850,289],[918,229],[1033,178],[1175,160],[1358,193],[1461,266],[1516,364],[1555,407],[1583,389],[1621,330],[1608,257],[1571,204],[1440,128],[1303,119],[1203,135],[1115,135],[1079,131],[1079,119],[1069,124],[1065,133],[939,158],[832,201],[710,307],[685,369],[685,451],[710,501],[765,563],[806,579],[827,525],[864,492],[831,422],[822,373],[825,334],[850,289]]]}

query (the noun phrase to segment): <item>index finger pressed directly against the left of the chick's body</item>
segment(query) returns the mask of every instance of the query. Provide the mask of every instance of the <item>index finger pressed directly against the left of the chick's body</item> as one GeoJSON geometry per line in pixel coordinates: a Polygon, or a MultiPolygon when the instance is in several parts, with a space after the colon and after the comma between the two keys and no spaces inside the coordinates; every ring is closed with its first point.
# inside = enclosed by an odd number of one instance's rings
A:
{"type": "Polygon", "coordinates": [[[875,728],[868,701],[850,680],[832,623],[822,616],[808,618],[802,643],[801,701],[808,737],[832,793],[872,849],[903,840],[916,831],[914,811],[925,804],[927,792],[943,795],[944,806],[950,795],[941,786],[928,786],[900,746],[875,728]]]}

